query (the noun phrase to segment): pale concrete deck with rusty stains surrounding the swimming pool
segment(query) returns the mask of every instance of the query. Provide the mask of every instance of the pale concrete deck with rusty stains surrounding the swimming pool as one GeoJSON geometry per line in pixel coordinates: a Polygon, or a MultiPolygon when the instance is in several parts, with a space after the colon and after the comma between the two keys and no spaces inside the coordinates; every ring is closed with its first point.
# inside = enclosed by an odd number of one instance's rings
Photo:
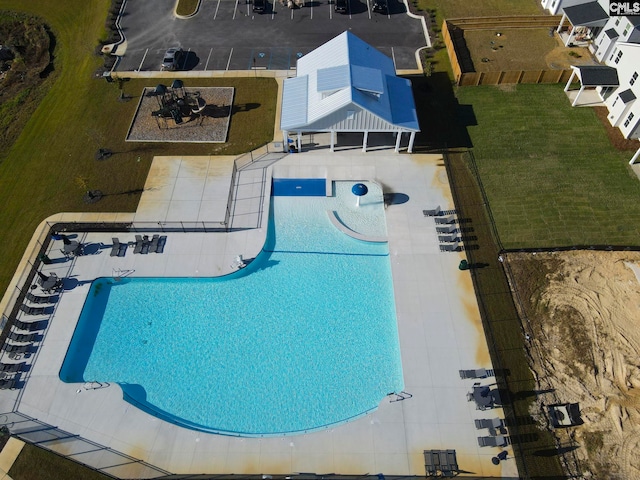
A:
{"type": "MultiPolygon", "coordinates": [[[[228,157],[157,157],[138,211],[100,218],[156,223],[222,220],[231,165],[228,157]]],[[[458,269],[465,254],[441,252],[434,219],[422,213],[437,205],[453,209],[442,158],[394,154],[392,149],[367,153],[318,149],[256,165],[243,175],[246,194],[236,201],[233,215],[238,231],[167,232],[163,253],[139,255],[130,249],[124,257],[109,255],[111,238],[132,241],[133,234],[78,234],[77,239],[90,249],[73,260],[63,260],[59,253],[62,242],[54,242],[50,257],[55,262],[44,265],[43,270],[65,277],[65,289],[37,352],[26,359],[31,366],[23,374],[25,386],[0,392],[2,412],[18,411],[172,473],[382,472],[423,477],[424,450],[455,449],[460,470],[468,475],[517,478],[510,446],[478,445],[478,437],[488,432],[477,430],[474,420],[504,418],[502,410],[480,411],[467,400],[474,382],[493,385],[495,379],[462,380],[459,374],[459,370],[490,369],[492,365],[470,274],[458,269]],[[386,397],[373,413],[315,433],[238,438],[188,430],[147,415],[122,400],[118,385],[61,382],[58,371],[91,280],[119,275],[224,275],[237,268],[237,255],[250,259],[260,251],[266,235],[265,202],[269,201],[268,190],[261,189],[268,183],[263,182],[265,172],[267,178],[273,174],[373,180],[385,192],[406,195],[395,196],[406,201],[390,204],[386,218],[407,398],[386,397]],[[492,458],[503,450],[508,452],[507,460],[494,465],[492,458]]],[[[60,214],[50,220],[77,217],[60,214]]],[[[187,314],[184,321],[189,321],[187,314]]],[[[2,355],[2,361],[9,361],[6,353],[2,355]]],[[[11,425],[14,433],[21,428],[20,423],[11,425]]],[[[74,442],[68,439],[49,440],[45,445],[64,454],[74,453],[74,442]]],[[[78,452],[74,458],[95,465],[100,464],[100,456],[108,473],[153,476],[141,464],[118,465],[105,449],[78,452]]]]}

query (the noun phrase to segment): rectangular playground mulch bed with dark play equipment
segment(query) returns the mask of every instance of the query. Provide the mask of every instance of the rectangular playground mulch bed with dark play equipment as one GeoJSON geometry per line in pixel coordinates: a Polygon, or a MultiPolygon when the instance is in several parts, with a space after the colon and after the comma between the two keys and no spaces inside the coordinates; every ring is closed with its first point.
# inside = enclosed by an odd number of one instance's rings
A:
{"type": "Polygon", "coordinates": [[[167,88],[164,94],[157,94],[156,88],[145,87],[127,141],[226,142],[233,113],[233,94],[232,87],[167,88]],[[193,113],[197,110],[198,98],[204,100],[206,106],[193,113]],[[181,123],[170,116],[172,109],[181,112],[181,123]]]}

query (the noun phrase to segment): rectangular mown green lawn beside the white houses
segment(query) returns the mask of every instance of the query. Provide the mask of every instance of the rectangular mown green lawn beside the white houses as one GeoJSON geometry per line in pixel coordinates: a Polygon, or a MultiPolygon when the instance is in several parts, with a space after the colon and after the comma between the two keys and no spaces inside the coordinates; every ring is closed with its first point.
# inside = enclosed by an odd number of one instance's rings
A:
{"type": "Polygon", "coordinates": [[[468,132],[505,248],[637,244],[632,152],[612,148],[592,109],[572,108],[562,85],[463,87],[457,97],[472,106],[468,132]]]}

